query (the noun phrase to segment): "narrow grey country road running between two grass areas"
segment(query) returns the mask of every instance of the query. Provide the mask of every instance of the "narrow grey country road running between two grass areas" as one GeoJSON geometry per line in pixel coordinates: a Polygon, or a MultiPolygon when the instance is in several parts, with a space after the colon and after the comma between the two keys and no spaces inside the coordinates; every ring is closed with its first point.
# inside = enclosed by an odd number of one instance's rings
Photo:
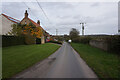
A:
{"type": "Polygon", "coordinates": [[[66,42],[47,59],[14,76],[16,78],[97,78],[66,42]]]}

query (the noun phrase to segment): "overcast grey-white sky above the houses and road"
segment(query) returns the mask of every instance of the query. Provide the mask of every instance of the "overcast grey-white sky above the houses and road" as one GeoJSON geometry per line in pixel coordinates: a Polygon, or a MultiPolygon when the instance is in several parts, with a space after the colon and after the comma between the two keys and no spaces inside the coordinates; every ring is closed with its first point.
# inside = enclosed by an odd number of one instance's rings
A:
{"type": "Polygon", "coordinates": [[[50,34],[69,34],[76,28],[81,34],[80,22],[85,22],[85,35],[116,34],[118,32],[117,2],[39,2],[47,17],[36,2],[3,2],[2,13],[22,20],[25,10],[29,18],[50,34]],[[28,9],[29,7],[29,9],[28,9]]]}

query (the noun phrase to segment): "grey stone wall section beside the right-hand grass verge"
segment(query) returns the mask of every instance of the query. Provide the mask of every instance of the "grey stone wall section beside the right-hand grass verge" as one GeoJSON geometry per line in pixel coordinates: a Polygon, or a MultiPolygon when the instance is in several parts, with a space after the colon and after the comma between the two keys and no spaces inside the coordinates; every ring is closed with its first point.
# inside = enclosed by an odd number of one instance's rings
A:
{"type": "Polygon", "coordinates": [[[108,51],[108,44],[105,41],[91,40],[89,44],[93,47],[108,51]]]}

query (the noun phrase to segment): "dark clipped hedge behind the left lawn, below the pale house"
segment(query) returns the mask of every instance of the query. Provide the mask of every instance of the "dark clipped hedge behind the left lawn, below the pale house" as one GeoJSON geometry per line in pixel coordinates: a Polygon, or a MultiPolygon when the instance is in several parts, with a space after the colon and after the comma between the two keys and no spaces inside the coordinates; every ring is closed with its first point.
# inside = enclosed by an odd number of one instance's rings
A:
{"type": "Polygon", "coordinates": [[[2,35],[2,47],[24,45],[24,37],[2,35]]]}

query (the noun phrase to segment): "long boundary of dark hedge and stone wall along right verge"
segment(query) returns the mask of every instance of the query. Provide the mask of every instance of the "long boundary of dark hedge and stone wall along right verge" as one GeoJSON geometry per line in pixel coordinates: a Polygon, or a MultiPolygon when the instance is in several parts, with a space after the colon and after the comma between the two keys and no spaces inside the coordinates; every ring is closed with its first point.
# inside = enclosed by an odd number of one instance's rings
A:
{"type": "Polygon", "coordinates": [[[120,54],[120,35],[87,35],[74,38],[75,43],[89,44],[102,50],[120,54]]]}

